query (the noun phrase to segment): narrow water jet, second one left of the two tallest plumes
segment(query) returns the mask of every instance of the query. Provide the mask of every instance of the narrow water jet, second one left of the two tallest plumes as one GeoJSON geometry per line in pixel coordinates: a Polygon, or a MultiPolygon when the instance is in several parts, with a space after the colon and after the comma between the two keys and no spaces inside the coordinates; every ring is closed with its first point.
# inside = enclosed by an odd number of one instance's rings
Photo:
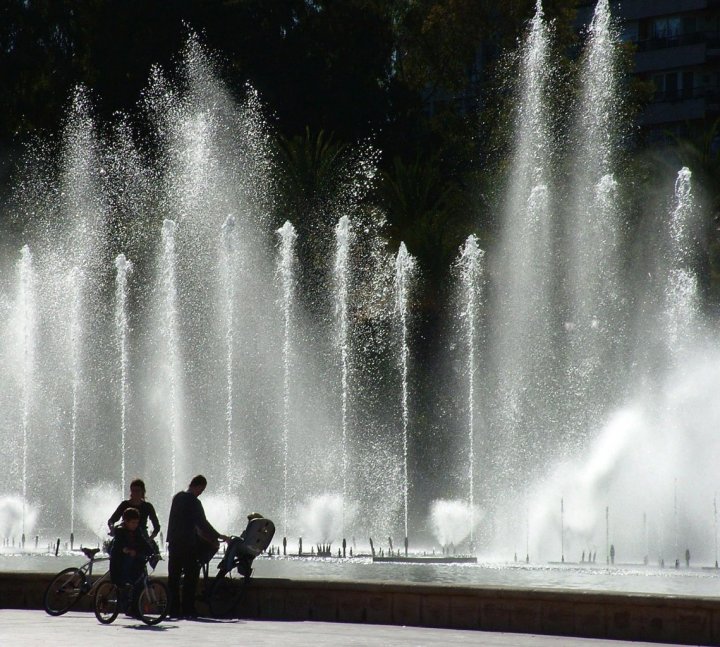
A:
{"type": "Polygon", "coordinates": [[[400,243],[395,258],[395,312],[400,332],[400,378],[402,411],[402,451],[403,451],[403,510],[405,529],[405,550],[408,542],[408,298],[415,272],[415,259],[408,253],[405,243],[400,243]]]}

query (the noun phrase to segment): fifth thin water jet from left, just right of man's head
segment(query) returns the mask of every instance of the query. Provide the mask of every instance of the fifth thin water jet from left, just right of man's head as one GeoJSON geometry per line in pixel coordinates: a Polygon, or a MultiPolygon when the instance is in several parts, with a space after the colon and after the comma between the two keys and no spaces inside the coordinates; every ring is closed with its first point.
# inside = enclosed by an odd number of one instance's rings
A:
{"type": "MultiPolygon", "coordinates": [[[[229,215],[222,226],[223,283],[225,288],[225,489],[228,506],[233,491],[233,354],[235,349],[235,276],[237,259],[235,216],[229,215]]],[[[227,510],[230,523],[230,509],[227,510]]]]}

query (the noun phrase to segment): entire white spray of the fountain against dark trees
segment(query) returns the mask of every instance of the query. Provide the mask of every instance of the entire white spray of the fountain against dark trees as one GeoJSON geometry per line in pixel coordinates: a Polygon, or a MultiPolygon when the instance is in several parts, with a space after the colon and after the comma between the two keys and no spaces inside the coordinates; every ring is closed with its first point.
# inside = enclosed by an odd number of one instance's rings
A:
{"type": "Polygon", "coordinates": [[[538,3],[497,240],[458,250],[442,340],[454,378],[421,392],[435,370],[410,334],[422,267],[404,244],[389,253],[383,215],[360,204],[372,156],[317,231],[296,231],[275,203],[283,170],[259,98],[233,98],[196,41],[182,83],[151,74],[150,143],[128,117],[97,128],[79,91],[59,170],[33,167],[18,189],[27,246],[0,259],[20,272],[0,279],[14,313],[0,329],[0,443],[14,457],[0,492],[21,527],[7,513],[6,532],[54,539],[69,521],[94,541],[118,476],[144,476],[162,519],[202,472],[209,516],[232,527],[259,510],[306,548],[402,537],[574,562],[604,543],[654,563],[691,546],[714,563],[720,343],[695,274],[691,172],[635,253],[608,3],[565,136],[550,125],[551,40],[538,3]]]}

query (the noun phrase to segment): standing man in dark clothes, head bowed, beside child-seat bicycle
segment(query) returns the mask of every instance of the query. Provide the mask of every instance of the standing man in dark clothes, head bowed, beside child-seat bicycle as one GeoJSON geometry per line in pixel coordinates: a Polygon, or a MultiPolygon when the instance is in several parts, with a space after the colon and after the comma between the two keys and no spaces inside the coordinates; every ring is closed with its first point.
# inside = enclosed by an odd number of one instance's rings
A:
{"type": "Polygon", "coordinates": [[[207,486],[207,479],[198,475],[190,481],[184,492],[178,492],[170,507],[168,520],[168,589],[170,593],[170,616],[194,618],[195,590],[200,576],[198,562],[200,534],[210,541],[226,541],[205,518],[205,510],[198,497],[207,486]],[[180,606],[180,577],[183,583],[182,607],[180,606]]]}

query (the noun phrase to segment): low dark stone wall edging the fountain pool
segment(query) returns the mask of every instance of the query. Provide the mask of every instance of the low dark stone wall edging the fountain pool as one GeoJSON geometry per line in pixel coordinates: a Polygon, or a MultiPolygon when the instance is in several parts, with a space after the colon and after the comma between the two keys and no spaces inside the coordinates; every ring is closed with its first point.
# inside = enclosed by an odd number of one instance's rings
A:
{"type": "MultiPolygon", "coordinates": [[[[0,608],[42,609],[51,578],[0,573],[0,608]]],[[[720,645],[720,599],[668,595],[253,578],[242,615],[720,645]]]]}

